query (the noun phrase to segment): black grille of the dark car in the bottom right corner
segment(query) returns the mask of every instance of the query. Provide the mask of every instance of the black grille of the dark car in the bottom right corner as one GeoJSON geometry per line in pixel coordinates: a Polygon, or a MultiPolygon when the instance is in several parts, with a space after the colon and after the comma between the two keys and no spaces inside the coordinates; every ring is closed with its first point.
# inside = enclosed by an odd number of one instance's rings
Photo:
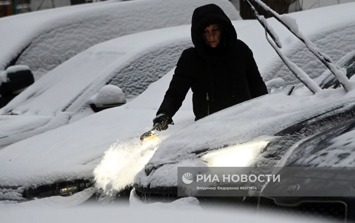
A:
{"type": "Polygon", "coordinates": [[[260,197],[258,211],[287,212],[293,214],[305,214],[321,219],[334,219],[345,221],[347,206],[342,201],[302,201],[295,206],[277,205],[268,197],[260,197]]]}

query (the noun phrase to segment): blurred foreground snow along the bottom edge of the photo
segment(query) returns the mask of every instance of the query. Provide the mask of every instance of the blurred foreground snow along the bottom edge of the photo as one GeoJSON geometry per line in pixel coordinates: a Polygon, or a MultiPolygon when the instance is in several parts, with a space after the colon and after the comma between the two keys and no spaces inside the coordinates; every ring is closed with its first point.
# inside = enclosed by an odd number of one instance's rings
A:
{"type": "MultiPolygon", "coordinates": [[[[75,196],[75,195],[73,195],[75,196]]],[[[71,197],[73,197],[71,196],[71,197]]],[[[71,197],[62,197],[68,203],[71,197]]],[[[58,199],[58,198],[57,198],[58,199]]],[[[39,201],[37,200],[37,204],[39,201]]],[[[55,199],[53,199],[55,200],[55,199]]],[[[58,199],[59,200],[59,199],[58,199]]],[[[138,201],[139,202],[139,201],[138,201]]],[[[34,205],[35,201],[18,205],[1,205],[0,214],[6,223],[52,223],[61,222],[104,222],[116,223],[160,223],[160,222],[263,222],[263,223],[320,223],[322,221],[306,216],[287,216],[276,213],[255,213],[245,207],[228,207],[226,205],[208,206],[202,209],[195,197],[185,197],[171,203],[153,203],[148,205],[98,205],[84,203],[80,206],[60,206],[43,202],[45,205],[34,205]],[[64,214],[65,213],[65,214],[64,214]],[[50,220],[49,220],[50,219],[50,220]]],[[[74,204],[75,202],[73,202],[74,204]]],[[[324,222],[324,220],[323,220],[324,222]]],[[[327,221],[329,222],[329,221],[327,221]]]]}

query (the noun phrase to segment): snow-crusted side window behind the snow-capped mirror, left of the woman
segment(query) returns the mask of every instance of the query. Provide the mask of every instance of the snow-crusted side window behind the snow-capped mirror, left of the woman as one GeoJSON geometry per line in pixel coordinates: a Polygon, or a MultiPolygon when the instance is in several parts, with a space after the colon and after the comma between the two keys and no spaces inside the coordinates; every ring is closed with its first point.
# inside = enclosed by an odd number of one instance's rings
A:
{"type": "Polygon", "coordinates": [[[132,58],[128,66],[116,69],[106,82],[92,84],[75,101],[63,111],[75,114],[71,121],[93,113],[87,103],[93,92],[98,92],[104,85],[111,84],[122,89],[126,99],[131,101],[140,95],[148,86],[159,80],[176,66],[181,52],[192,46],[191,40],[181,40],[175,43],[153,47],[137,57],[132,58]]]}

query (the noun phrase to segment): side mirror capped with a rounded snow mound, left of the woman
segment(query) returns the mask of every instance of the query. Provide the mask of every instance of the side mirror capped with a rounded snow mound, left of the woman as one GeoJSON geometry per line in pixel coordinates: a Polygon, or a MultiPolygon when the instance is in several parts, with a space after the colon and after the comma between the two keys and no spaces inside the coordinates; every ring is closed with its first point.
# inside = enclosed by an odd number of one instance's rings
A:
{"type": "Polygon", "coordinates": [[[117,107],[126,104],[126,98],[121,88],[115,85],[105,85],[94,95],[90,105],[94,112],[102,111],[106,108],[117,107]]]}

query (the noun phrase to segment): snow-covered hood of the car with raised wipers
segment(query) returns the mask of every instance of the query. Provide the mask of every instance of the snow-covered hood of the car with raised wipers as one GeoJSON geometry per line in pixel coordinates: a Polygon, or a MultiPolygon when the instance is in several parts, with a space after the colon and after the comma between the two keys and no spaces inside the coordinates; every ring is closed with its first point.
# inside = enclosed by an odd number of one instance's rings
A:
{"type": "Polygon", "coordinates": [[[353,102],[355,95],[354,91],[346,94],[342,88],[326,89],[316,95],[305,88],[296,89],[290,96],[286,92],[243,102],[168,136],[146,165],[146,168],[154,171],[147,175],[144,168],[136,175],[135,184],[149,185],[151,188],[176,186],[178,166],[206,166],[200,157],[211,150],[270,140],[296,123],[353,102]],[[169,172],[171,175],[166,177],[169,172]]]}

